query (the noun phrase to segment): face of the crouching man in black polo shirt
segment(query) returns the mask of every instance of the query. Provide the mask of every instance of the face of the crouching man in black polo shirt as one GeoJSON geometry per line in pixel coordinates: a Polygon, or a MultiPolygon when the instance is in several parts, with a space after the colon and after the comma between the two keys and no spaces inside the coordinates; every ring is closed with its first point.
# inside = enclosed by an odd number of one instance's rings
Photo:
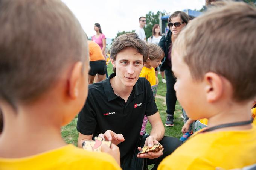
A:
{"type": "Polygon", "coordinates": [[[143,55],[136,49],[127,47],[116,55],[116,60],[111,60],[116,68],[117,82],[122,87],[133,87],[140,76],[143,67],[143,55]]]}

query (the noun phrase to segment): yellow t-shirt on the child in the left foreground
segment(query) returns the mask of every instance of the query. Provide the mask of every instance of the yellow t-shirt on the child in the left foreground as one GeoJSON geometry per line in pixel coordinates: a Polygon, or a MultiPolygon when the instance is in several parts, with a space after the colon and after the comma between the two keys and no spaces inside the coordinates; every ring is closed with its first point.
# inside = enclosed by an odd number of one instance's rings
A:
{"type": "Polygon", "coordinates": [[[25,158],[0,158],[0,170],[85,169],[120,170],[121,168],[107,153],[86,151],[72,144],[25,158]]]}

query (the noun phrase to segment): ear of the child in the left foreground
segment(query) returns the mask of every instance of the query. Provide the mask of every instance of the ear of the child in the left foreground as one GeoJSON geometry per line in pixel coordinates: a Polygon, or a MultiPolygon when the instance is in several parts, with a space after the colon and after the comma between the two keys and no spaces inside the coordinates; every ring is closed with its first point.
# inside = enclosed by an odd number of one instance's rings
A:
{"type": "Polygon", "coordinates": [[[79,93],[79,81],[82,78],[82,62],[76,62],[72,68],[69,80],[68,80],[68,94],[72,99],[76,99],[79,93]]]}

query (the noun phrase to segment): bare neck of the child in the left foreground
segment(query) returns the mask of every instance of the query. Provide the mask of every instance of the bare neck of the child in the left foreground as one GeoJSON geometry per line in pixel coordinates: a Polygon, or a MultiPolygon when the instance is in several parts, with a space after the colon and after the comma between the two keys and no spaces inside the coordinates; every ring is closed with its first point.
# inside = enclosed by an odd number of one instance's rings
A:
{"type": "Polygon", "coordinates": [[[66,145],[60,134],[60,125],[54,124],[49,117],[48,120],[44,116],[35,118],[35,114],[44,115],[40,109],[37,112],[4,109],[8,114],[5,115],[4,129],[0,136],[0,157],[22,158],[66,145]]]}

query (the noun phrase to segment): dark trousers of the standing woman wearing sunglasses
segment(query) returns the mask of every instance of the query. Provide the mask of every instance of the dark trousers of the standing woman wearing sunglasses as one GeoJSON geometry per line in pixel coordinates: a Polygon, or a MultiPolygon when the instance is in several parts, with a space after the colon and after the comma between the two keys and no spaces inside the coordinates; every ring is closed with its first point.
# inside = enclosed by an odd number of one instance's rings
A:
{"type": "Polygon", "coordinates": [[[174,114],[175,111],[175,105],[176,105],[176,92],[174,90],[174,84],[176,79],[174,78],[172,74],[172,70],[168,69],[165,70],[165,78],[166,78],[166,113],[167,114],[174,114]]]}

